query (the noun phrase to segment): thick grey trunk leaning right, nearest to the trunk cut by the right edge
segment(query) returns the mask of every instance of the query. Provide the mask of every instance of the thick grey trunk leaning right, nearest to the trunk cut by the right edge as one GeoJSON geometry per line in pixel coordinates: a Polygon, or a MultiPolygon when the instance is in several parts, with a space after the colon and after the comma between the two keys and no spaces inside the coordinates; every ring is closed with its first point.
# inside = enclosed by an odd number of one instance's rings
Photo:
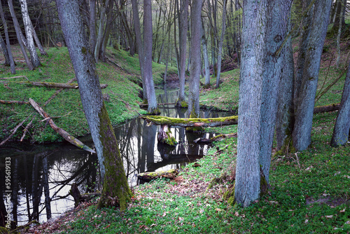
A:
{"type": "Polygon", "coordinates": [[[309,43],[307,43],[302,83],[297,95],[298,102],[295,102],[293,144],[297,151],[303,151],[311,144],[312,117],[314,114],[318,72],[325,34],[328,28],[331,4],[331,0],[320,0],[316,1],[314,5],[314,19],[312,22],[314,27],[310,31],[309,43]]]}

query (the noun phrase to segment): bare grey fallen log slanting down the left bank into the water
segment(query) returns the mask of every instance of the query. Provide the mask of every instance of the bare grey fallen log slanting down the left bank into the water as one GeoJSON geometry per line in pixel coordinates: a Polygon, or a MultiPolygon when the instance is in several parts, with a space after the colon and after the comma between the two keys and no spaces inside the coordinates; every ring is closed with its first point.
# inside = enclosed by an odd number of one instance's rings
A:
{"type": "Polygon", "coordinates": [[[67,142],[69,142],[69,143],[71,143],[71,144],[73,144],[73,145],[75,145],[75,146],[77,146],[80,149],[83,149],[85,151],[89,151],[91,153],[96,153],[89,146],[86,146],[85,144],[83,144],[83,142],[80,142],[78,139],[76,139],[76,137],[73,137],[68,132],[63,130],[62,128],[57,127],[57,125],[55,125],[55,123],[52,121],[52,119],[50,118],[48,113],[46,113],[33,99],[29,98],[29,102],[30,102],[31,106],[33,106],[34,109],[36,109],[36,111],[38,111],[38,113],[40,113],[40,115],[43,116],[43,118],[48,118],[48,123],[50,124],[51,128],[53,130],[55,130],[55,132],[57,132],[59,135],[61,135],[67,142]]]}

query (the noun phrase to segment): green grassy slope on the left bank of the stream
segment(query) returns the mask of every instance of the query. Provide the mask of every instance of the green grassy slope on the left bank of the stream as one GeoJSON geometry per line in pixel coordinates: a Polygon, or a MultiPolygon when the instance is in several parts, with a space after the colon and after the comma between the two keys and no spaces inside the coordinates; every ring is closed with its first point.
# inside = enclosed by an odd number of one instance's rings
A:
{"type": "MultiPolygon", "coordinates": [[[[14,47],[15,60],[22,60],[22,57],[17,47],[14,47]]],[[[17,62],[17,74],[15,76],[27,76],[29,81],[45,81],[66,83],[71,78],[75,77],[73,67],[66,48],[48,48],[49,56],[42,57],[41,63],[43,67],[35,71],[29,71],[25,64],[17,62]]],[[[118,69],[111,63],[99,62],[97,64],[97,71],[99,74],[100,83],[107,83],[109,86],[102,90],[104,94],[109,95],[109,102],[106,102],[107,110],[113,125],[118,125],[127,121],[130,118],[137,116],[137,111],[142,113],[137,102],[141,99],[137,97],[139,90],[138,85],[132,83],[132,80],[139,78],[139,60],[137,55],[131,57],[127,52],[120,50],[113,50],[109,48],[108,54],[113,60],[118,61],[118,64],[125,70],[118,69]],[[123,100],[123,101],[122,101],[123,100]],[[127,105],[127,102],[130,105],[127,105]]],[[[155,83],[161,83],[161,72],[165,70],[164,65],[154,64],[155,83]]],[[[170,72],[174,72],[170,69],[170,72]]],[[[0,66],[0,78],[10,77],[10,68],[4,67],[2,62],[0,66]]],[[[8,80],[11,81],[12,79],[8,80]]],[[[15,81],[26,81],[25,78],[16,78],[15,81]]],[[[76,83],[76,81],[74,81],[76,83]]],[[[56,92],[54,88],[34,87],[31,85],[20,85],[14,83],[0,83],[0,99],[5,100],[25,100],[29,97],[38,102],[43,109],[50,114],[50,116],[62,116],[55,118],[55,123],[64,130],[67,130],[71,135],[82,136],[89,132],[85,115],[83,113],[83,106],[81,106],[80,95],[78,90],[63,90],[52,99],[48,106],[43,104],[51,95],[56,92]],[[69,113],[71,112],[71,113],[69,113]],[[66,115],[69,113],[69,115],[66,115]],[[64,116],[66,115],[66,116],[64,116]]],[[[57,135],[45,122],[38,122],[42,118],[34,111],[30,105],[4,105],[0,104],[0,139],[10,135],[10,130],[15,128],[18,123],[23,121],[29,113],[35,116],[33,128],[27,134],[26,139],[34,142],[54,142],[61,141],[62,137],[57,135]]],[[[31,118],[29,118],[23,125],[27,125],[31,118]]],[[[19,139],[22,136],[22,128],[13,136],[12,139],[19,139]]]]}

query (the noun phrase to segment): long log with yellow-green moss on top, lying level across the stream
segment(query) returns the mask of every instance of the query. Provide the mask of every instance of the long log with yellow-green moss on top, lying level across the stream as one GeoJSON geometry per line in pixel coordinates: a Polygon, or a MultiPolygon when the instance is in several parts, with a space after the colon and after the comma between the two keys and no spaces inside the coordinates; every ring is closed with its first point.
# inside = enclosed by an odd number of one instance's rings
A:
{"type": "Polygon", "coordinates": [[[165,116],[140,116],[155,125],[169,125],[176,127],[219,127],[238,123],[238,116],[222,118],[170,118],[165,116]]]}

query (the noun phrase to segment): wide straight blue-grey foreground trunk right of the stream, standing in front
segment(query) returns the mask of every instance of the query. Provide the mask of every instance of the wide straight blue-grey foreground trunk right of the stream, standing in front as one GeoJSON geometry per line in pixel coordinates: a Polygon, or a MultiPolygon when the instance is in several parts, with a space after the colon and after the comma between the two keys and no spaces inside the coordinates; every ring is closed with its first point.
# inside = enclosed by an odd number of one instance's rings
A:
{"type": "Polygon", "coordinates": [[[267,0],[243,1],[235,200],[247,207],[260,195],[260,113],[267,0]]]}

